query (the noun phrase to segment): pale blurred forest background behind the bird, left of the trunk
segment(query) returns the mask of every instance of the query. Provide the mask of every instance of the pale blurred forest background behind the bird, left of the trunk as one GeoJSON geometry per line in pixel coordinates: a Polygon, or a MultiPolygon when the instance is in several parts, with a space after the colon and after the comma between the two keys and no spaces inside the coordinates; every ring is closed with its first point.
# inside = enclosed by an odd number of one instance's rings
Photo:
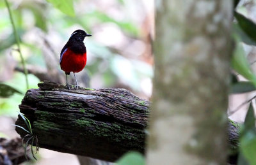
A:
{"type": "MultiPolygon", "coordinates": [[[[30,88],[51,80],[65,84],[60,52],[77,29],[92,34],[85,38],[87,64],[77,73],[79,86],[93,89],[120,87],[139,97],[152,94],[154,0],[8,0],[20,37],[20,50],[28,69],[30,88]],[[67,2],[66,1],[66,2],[67,2]],[[61,2],[61,1],[59,1],[61,2]]],[[[26,92],[24,69],[17,51],[12,23],[4,1],[0,1],[0,83],[22,94],[0,97],[0,137],[15,138],[14,124],[26,92]]],[[[68,76],[74,81],[73,75],[68,76]]],[[[74,84],[74,82],[73,82],[74,84]]],[[[28,164],[24,163],[24,164],[28,164]]],[[[75,155],[40,148],[36,164],[79,164],[75,155]]]]}

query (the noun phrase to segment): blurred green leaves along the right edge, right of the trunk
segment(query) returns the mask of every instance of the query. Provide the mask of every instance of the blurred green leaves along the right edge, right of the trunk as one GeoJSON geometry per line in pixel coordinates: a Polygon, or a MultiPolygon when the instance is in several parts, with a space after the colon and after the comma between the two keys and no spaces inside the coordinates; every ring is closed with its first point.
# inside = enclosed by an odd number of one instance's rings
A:
{"type": "MultiPolygon", "coordinates": [[[[234,7],[239,4],[234,0],[234,7]]],[[[248,63],[243,45],[255,46],[256,44],[256,24],[241,13],[234,11],[236,23],[234,23],[234,40],[236,48],[232,56],[232,68],[236,73],[244,76],[248,82],[234,82],[231,87],[232,94],[255,91],[256,76],[251,71],[251,64],[248,63]]],[[[252,63],[253,64],[253,63],[252,63]]],[[[252,101],[252,100],[250,100],[252,101]]],[[[255,114],[252,103],[246,114],[243,127],[240,131],[239,158],[237,164],[256,164],[256,131],[255,114]]]]}

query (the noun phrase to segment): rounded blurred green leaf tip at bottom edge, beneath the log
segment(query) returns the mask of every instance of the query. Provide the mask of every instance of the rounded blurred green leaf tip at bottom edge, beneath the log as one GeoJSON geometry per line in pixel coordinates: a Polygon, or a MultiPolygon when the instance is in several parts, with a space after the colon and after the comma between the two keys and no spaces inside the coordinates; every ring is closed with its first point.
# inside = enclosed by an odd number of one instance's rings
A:
{"type": "Polygon", "coordinates": [[[117,165],[144,165],[145,159],[139,152],[128,152],[124,154],[118,161],[117,165]]]}

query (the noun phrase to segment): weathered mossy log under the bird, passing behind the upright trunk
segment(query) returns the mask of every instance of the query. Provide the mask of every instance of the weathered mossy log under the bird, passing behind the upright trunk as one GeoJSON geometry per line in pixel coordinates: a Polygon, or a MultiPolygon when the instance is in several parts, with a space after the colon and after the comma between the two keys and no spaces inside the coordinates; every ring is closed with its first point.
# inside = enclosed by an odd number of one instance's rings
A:
{"type": "MultiPolygon", "coordinates": [[[[67,90],[52,82],[38,87],[26,92],[19,108],[31,122],[39,147],[111,162],[130,150],[145,152],[149,101],[125,89],[67,90]]],[[[16,124],[26,128],[20,116],[16,124]]],[[[230,121],[232,150],[238,145],[237,127],[230,121]]],[[[21,137],[27,134],[19,127],[16,131],[21,137]]]]}

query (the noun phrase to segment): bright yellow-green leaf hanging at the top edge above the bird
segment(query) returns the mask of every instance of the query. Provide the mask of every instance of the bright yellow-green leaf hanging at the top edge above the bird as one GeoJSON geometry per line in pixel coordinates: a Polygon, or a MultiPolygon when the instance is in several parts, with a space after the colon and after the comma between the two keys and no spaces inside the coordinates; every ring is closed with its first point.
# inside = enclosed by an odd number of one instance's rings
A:
{"type": "Polygon", "coordinates": [[[47,0],[49,3],[51,3],[55,8],[58,8],[58,10],[62,11],[63,13],[74,17],[75,11],[74,11],[74,5],[72,0],[47,0]]]}

